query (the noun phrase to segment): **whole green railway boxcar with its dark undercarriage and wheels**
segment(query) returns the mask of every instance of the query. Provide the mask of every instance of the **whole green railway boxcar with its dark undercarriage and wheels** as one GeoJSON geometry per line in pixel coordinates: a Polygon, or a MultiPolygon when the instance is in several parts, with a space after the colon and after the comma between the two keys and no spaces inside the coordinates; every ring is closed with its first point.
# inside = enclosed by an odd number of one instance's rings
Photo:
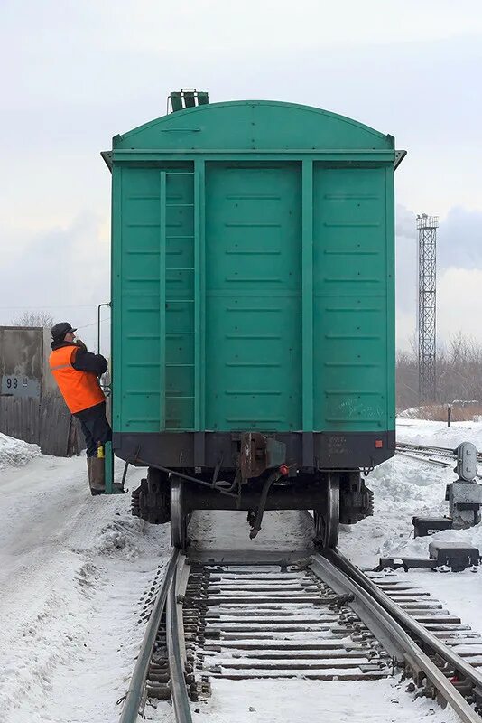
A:
{"type": "Polygon", "coordinates": [[[319,108],[173,94],[116,136],[113,447],[134,513],[314,509],[323,544],[394,453],[394,138],[319,108]],[[184,103],[182,103],[184,100],[184,103]],[[189,107],[193,106],[193,107],[189,107]],[[262,494],[262,492],[264,493],[262,494]]]}

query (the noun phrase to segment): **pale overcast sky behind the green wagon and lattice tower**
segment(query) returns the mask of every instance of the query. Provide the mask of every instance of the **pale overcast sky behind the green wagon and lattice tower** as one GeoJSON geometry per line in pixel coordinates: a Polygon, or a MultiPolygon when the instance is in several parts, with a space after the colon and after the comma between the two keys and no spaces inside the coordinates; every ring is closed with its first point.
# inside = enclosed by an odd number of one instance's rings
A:
{"type": "Polygon", "coordinates": [[[440,339],[482,342],[481,61],[480,0],[1,0],[0,324],[45,309],[94,343],[109,297],[99,152],[162,116],[172,89],[197,87],[395,136],[409,153],[396,174],[399,346],[415,329],[421,211],[440,216],[440,339]]]}

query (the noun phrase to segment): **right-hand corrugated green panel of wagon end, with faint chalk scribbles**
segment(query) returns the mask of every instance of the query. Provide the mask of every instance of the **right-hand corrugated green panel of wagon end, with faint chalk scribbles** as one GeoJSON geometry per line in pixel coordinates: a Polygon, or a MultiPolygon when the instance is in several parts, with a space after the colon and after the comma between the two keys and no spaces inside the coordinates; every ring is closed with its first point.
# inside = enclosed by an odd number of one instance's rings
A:
{"type": "Polygon", "coordinates": [[[315,164],[313,189],[315,428],[390,428],[385,168],[315,164]]]}

